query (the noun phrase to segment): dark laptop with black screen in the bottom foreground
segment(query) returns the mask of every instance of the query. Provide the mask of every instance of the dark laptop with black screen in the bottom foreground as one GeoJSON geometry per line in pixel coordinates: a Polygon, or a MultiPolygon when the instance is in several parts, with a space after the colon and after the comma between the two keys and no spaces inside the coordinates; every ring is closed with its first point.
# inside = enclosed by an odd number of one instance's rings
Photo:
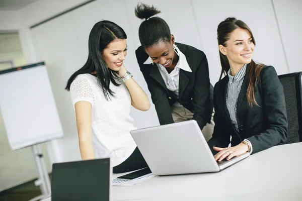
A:
{"type": "Polygon", "coordinates": [[[109,201],[110,185],[109,158],[52,165],[52,201],[109,201]]]}

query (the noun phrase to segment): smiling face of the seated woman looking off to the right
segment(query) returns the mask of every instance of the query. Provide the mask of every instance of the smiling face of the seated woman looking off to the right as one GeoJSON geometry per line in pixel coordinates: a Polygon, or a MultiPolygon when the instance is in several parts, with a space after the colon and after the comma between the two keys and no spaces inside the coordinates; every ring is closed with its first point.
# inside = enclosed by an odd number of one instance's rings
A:
{"type": "Polygon", "coordinates": [[[219,45],[219,51],[228,57],[231,67],[242,67],[252,61],[255,44],[248,30],[237,28],[226,41],[226,47],[219,45]]]}

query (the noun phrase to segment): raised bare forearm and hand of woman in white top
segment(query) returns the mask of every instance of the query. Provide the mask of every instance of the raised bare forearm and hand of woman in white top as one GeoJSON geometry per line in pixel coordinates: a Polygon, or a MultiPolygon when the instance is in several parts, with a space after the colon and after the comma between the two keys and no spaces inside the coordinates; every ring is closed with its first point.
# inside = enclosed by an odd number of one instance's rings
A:
{"type": "MultiPolygon", "coordinates": [[[[126,74],[127,70],[122,65],[119,70],[119,76],[122,77],[126,74]]],[[[131,77],[125,81],[125,84],[131,95],[131,105],[137,110],[147,111],[150,108],[150,102],[147,94],[142,90],[142,88],[136,83],[136,81],[131,77]]]]}

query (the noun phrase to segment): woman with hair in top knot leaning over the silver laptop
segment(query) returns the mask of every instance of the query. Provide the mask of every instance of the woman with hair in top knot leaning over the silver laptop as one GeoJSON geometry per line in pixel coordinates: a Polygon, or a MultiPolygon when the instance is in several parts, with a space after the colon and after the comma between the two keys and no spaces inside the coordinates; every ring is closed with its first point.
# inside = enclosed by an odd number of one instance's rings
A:
{"type": "Polygon", "coordinates": [[[153,6],[138,4],[135,15],[141,46],[136,58],[161,125],[196,120],[206,140],[213,133],[213,86],[205,54],[189,45],[175,43],[168,24],[153,6]]]}

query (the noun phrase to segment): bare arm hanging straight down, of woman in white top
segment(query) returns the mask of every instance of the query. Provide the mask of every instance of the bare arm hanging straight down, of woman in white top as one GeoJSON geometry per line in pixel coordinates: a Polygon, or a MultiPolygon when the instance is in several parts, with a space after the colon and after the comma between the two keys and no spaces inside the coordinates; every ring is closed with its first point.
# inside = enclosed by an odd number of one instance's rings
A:
{"type": "Polygon", "coordinates": [[[79,101],[75,103],[74,107],[75,116],[77,118],[81,157],[83,160],[94,159],[91,103],[87,101],[79,101]]]}

